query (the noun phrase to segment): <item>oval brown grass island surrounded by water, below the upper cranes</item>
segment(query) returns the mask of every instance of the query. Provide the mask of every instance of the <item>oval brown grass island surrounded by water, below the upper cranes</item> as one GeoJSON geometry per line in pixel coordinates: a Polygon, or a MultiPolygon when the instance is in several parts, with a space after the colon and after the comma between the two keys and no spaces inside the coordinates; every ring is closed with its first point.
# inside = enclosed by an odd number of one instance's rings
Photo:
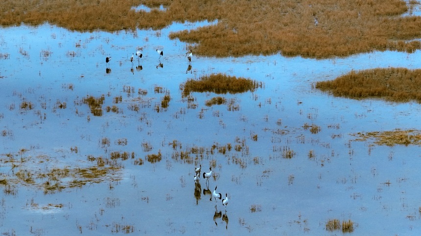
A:
{"type": "Polygon", "coordinates": [[[199,80],[188,80],[183,87],[183,95],[187,97],[190,92],[242,93],[254,91],[256,88],[262,87],[262,83],[219,73],[202,76],[199,80]]]}

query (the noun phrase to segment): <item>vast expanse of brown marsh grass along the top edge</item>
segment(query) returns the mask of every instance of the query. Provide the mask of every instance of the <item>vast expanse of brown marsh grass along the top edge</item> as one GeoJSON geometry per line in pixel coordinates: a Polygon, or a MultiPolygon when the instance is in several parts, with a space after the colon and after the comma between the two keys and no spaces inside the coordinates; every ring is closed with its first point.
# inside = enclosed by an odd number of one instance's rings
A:
{"type": "MultiPolygon", "coordinates": [[[[409,1],[410,8],[414,1],[409,1]]],[[[404,0],[3,0],[0,24],[45,21],[72,30],[161,29],[173,21],[218,20],[211,26],[173,32],[198,43],[195,54],[348,56],[373,50],[421,48],[421,17],[405,16],[404,0]],[[163,5],[137,12],[133,6],[163,5]]]]}

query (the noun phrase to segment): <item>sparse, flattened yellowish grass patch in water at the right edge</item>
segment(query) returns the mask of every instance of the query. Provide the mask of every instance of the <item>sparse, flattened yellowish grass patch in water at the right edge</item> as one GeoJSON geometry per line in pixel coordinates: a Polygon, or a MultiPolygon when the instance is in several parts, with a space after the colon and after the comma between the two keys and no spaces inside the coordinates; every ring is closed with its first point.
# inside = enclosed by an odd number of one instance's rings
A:
{"type": "Polygon", "coordinates": [[[369,139],[374,139],[374,143],[377,145],[421,145],[421,130],[395,129],[392,131],[374,131],[367,133],[355,133],[352,135],[357,137],[355,141],[367,141],[369,139]]]}

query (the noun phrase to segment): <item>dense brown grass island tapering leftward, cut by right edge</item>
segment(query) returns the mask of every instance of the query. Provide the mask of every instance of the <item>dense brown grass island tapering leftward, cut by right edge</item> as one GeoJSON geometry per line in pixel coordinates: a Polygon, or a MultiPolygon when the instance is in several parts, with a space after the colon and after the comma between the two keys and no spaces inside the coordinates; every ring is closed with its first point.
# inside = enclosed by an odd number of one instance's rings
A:
{"type": "Polygon", "coordinates": [[[421,69],[375,68],[350,73],[332,81],[316,83],[316,88],[334,96],[384,98],[394,102],[421,103],[421,69]]]}

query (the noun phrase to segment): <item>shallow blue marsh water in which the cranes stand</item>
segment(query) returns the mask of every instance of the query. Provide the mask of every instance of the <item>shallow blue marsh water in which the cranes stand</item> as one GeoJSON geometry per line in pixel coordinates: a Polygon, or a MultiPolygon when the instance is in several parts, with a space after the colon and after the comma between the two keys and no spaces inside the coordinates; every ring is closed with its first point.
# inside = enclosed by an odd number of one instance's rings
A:
{"type": "MultiPolygon", "coordinates": [[[[70,32],[47,24],[1,28],[0,53],[8,55],[0,59],[0,180],[8,181],[0,185],[1,233],[342,234],[326,230],[327,221],[335,218],[351,219],[357,235],[421,232],[420,148],[372,146],[372,141],[356,142],[351,136],[419,129],[420,105],[337,98],[312,88],[317,81],[351,70],[419,68],[419,51],[327,60],[279,54],[193,56],[187,71],[186,43],[168,40],[167,35],[208,23],[115,34],[70,32]],[[139,47],[143,57],[132,64],[130,56],[139,47]],[[164,51],[161,59],[156,49],[164,51]],[[112,57],[109,65],[107,56],[112,57]],[[242,94],[192,93],[194,101],[188,103],[180,86],[211,73],[246,77],[264,86],[242,94]],[[164,92],[154,92],[157,86],[164,92]],[[138,94],[139,89],[147,94],[138,94]],[[171,96],[169,107],[158,112],[165,91],[171,96]],[[82,99],[102,94],[103,114],[94,116],[82,99]],[[119,96],[122,101],[114,103],[119,96]],[[231,100],[236,108],[206,107],[205,101],[215,96],[231,100]],[[20,108],[24,101],[33,108],[20,108]],[[60,108],[63,103],[66,107],[60,108]],[[134,105],[139,111],[131,108],[134,105]],[[107,112],[107,106],[117,106],[118,113],[107,112]],[[321,131],[312,134],[304,124],[321,131]],[[104,138],[109,144],[102,143],[104,138]],[[175,150],[174,140],[181,143],[175,150]],[[152,149],[145,150],[145,143],[152,149]],[[225,154],[211,151],[212,145],[227,144],[233,148],[225,154]],[[190,154],[193,163],[172,158],[193,147],[205,150],[190,154]],[[284,158],[282,150],[295,155],[284,158]],[[310,150],[314,157],[308,157],[310,150]],[[118,159],[120,169],[88,179],[80,188],[46,194],[40,183],[48,178],[36,177],[54,168],[93,167],[96,161],[90,156],[110,158],[114,151],[133,152],[135,158],[118,159]],[[146,155],[158,153],[161,161],[146,160],[146,155]],[[139,158],[143,165],[135,164],[139,158]],[[201,164],[202,173],[208,172],[211,162],[217,174],[209,190],[217,186],[218,192],[230,196],[226,209],[216,203],[216,213],[221,211],[216,218],[214,199],[203,194],[208,189],[203,178],[200,198],[194,194],[194,168],[201,164]],[[25,170],[34,174],[36,183],[16,177],[25,170]]],[[[57,182],[68,186],[80,178],[75,174],[57,182]]]]}

